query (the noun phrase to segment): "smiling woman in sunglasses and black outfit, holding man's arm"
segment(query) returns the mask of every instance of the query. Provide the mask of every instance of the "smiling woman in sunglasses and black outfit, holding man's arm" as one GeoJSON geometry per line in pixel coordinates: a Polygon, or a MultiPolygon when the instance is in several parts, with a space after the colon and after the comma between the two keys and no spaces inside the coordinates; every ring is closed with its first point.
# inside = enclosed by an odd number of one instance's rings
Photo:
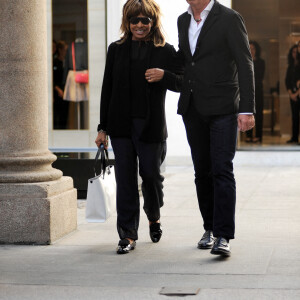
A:
{"type": "Polygon", "coordinates": [[[117,181],[118,254],[136,246],[140,216],[137,158],[150,237],[162,235],[163,176],[166,154],[166,90],[179,90],[181,69],[173,46],[165,43],[161,12],[153,0],[128,0],[121,40],[108,48],[96,144],[110,136],[117,181]]]}

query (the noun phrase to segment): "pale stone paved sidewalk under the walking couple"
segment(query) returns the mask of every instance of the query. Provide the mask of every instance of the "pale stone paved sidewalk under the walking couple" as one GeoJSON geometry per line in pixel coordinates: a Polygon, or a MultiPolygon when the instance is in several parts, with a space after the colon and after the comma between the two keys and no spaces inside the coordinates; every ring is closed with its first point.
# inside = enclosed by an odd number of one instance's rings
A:
{"type": "Polygon", "coordinates": [[[159,295],[162,287],[200,288],[185,299],[300,299],[300,167],[274,165],[236,164],[228,259],[196,247],[203,229],[191,164],[167,165],[158,244],[141,212],[136,250],[116,255],[116,216],[88,224],[79,201],[78,230],[54,245],[0,246],[0,299],[182,299],[159,295]]]}

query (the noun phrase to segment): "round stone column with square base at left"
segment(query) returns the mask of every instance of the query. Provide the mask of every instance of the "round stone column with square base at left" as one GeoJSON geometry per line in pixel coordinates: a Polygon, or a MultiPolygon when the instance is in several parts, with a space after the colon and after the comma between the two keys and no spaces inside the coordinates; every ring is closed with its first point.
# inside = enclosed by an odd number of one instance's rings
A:
{"type": "Polygon", "coordinates": [[[45,0],[0,0],[0,243],[76,229],[76,190],[48,150],[45,0]]]}

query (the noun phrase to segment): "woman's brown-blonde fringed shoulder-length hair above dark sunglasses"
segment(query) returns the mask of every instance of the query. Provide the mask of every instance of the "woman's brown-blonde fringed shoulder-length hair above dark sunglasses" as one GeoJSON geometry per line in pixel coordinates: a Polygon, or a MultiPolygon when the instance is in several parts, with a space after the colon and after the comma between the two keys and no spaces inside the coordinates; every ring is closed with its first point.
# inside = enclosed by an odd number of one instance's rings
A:
{"type": "Polygon", "coordinates": [[[149,40],[153,41],[156,47],[164,46],[166,41],[162,33],[161,11],[158,4],[153,0],[128,0],[124,4],[120,44],[132,36],[129,20],[132,17],[137,17],[139,14],[143,14],[152,20],[152,27],[148,36],[149,40]]]}

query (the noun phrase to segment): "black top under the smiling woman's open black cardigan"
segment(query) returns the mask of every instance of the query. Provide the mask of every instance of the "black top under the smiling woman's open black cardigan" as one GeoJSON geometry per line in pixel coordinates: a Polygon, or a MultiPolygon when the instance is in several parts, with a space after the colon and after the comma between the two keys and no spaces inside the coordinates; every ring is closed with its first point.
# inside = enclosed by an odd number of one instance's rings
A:
{"type": "Polygon", "coordinates": [[[131,116],[133,118],[145,118],[147,103],[145,90],[147,81],[145,72],[148,69],[148,54],[150,44],[140,41],[132,41],[130,50],[130,98],[131,116]]]}

